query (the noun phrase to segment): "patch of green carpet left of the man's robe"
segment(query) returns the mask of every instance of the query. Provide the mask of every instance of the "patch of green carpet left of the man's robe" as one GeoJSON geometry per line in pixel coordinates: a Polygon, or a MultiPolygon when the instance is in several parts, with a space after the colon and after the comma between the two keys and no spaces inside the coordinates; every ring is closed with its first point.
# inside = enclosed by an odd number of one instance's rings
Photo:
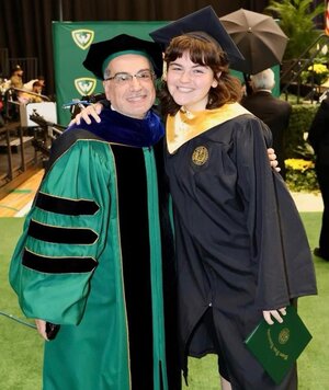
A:
{"type": "MultiPolygon", "coordinates": [[[[0,311],[24,320],[8,283],[9,260],[22,225],[21,218],[0,218],[0,311]]],[[[43,342],[36,331],[0,316],[0,389],[41,389],[43,342]]]]}

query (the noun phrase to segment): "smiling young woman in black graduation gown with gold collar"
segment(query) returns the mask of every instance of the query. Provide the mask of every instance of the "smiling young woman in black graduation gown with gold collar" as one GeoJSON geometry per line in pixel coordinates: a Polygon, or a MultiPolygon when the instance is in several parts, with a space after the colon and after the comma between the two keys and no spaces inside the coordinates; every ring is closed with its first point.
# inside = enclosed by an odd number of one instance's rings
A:
{"type": "Polygon", "coordinates": [[[243,341],[262,318],[282,322],[295,298],[316,294],[307,238],[268,163],[269,128],[237,103],[240,85],[214,42],[225,49],[227,36],[195,14],[150,34],[169,43],[161,104],[184,374],[188,356],[216,353],[223,389],[296,389],[295,367],[275,385],[243,341]]]}

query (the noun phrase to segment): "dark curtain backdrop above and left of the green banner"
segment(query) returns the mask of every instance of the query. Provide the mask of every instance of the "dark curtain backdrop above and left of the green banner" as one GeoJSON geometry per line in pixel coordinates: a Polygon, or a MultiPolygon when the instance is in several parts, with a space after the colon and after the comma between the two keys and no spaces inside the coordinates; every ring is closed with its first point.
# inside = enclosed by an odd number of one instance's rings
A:
{"type": "Polygon", "coordinates": [[[0,48],[8,48],[10,58],[37,58],[37,74],[45,76],[46,93],[53,95],[53,21],[172,21],[206,5],[223,16],[239,8],[262,12],[268,3],[266,0],[0,0],[0,48]]]}

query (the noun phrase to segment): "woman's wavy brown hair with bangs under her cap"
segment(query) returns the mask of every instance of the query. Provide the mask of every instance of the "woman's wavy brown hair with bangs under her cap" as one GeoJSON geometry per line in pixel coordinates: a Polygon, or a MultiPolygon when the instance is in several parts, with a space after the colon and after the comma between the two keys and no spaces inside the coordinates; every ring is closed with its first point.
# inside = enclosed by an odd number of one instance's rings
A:
{"type": "MultiPolygon", "coordinates": [[[[209,35],[195,32],[174,37],[164,53],[167,68],[170,62],[182,57],[184,51],[190,53],[193,62],[209,67],[218,82],[216,88],[209,90],[207,110],[218,108],[225,103],[239,101],[241,83],[237,78],[229,74],[227,56],[209,35]]],[[[161,112],[164,116],[174,115],[181,107],[170,95],[164,80],[159,92],[159,99],[161,112]]]]}

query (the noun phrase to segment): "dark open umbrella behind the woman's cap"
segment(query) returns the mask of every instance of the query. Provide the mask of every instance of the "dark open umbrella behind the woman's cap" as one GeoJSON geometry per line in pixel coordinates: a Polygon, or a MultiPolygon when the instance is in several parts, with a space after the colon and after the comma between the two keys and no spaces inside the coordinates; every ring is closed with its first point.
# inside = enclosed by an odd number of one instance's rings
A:
{"type": "Polygon", "coordinates": [[[239,67],[243,73],[256,74],[281,62],[288,38],[272,16],[241,8],[219,20],[246,58],[239,67]]]}

